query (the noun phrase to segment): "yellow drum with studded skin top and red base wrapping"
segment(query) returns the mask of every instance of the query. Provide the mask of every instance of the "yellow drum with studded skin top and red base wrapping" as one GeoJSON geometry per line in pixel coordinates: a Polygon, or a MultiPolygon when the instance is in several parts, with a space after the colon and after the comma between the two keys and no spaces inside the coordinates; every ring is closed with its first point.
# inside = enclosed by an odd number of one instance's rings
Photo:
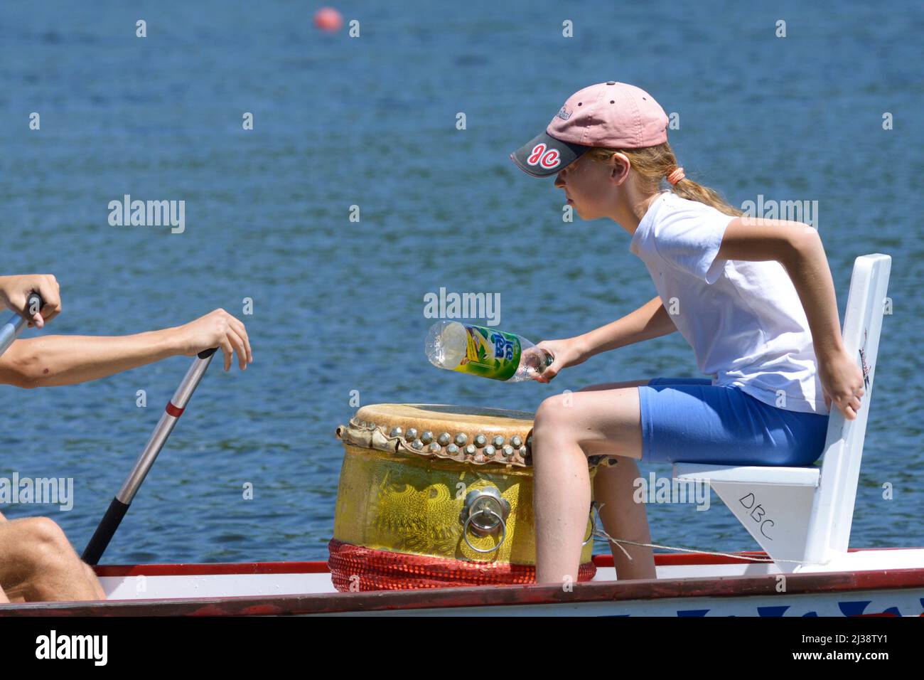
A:
{"type": "MultiPolygon", "coordinates": [[[[363,406],[345,448],[328,566],[334,587],[535,582],[533,414],[446,404],[363,406]]],[[[589,461],[590,476],[602,457],[589,461]]],[[[596,573],[590,517],[578,581],[596,573]]]]}

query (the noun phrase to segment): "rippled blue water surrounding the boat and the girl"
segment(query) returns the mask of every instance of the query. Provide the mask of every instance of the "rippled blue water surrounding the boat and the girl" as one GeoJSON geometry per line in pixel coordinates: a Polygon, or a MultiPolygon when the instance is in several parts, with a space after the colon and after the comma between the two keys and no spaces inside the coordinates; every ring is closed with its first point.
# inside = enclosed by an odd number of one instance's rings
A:
{"type": "MultiPolygon", "coordinates": [[[[340,4],[360,21],[356,39],[317,31],[314,8],[0,8],[0,271],[59,279],[64,313],[44,332],[136,333],[223,307],[253,346],[244,373],[213,363],[105,562],[326,559],[343,453],[334,427],[355,411],[351,390],[362,403],[534,410],[564,389],[697,376],[679,334],[549,385],[439,371],[421,352],[423,296],[440,287],[500,292],[500,328],[535,341],[654,296],[623,229],[563,223],[552,180],[507,158],[568,94],[602,80],[636,83],[678,112],[671,142],[687,175],[732,203],[817,200],[842,318],[857,255],[893,256],[851,544],[924,543],[919,4],[340,4]],[[138,19],[147,38],[135,37],[138,19]],[[41,130],[29,129],[33,111],[41,130]],[[254,130],[242,130],[244,112],[254,130]],[[882,130],[884,112],[894,130],[882,130]],[[184,200],[185,232],[110,226],[107,204],[125,193],[184,200]],[[887,483],[894,500],[882,499],[887,483]]],[[[70,512],[0,509],[47,514],[82,549],[188,364],[0,387],[0,476],[73,477],[76,496],[70,512]]],[[[755,548],[714,496],[709,513],[649,515],[658,543],[755,548]]]]}

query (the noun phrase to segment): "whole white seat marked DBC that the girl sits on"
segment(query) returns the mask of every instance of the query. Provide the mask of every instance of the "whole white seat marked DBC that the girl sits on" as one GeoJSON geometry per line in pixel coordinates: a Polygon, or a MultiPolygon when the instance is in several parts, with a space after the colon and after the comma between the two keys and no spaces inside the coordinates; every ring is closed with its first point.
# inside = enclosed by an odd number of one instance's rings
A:
{"type": "MultiPolygon", "coordinates": [[[[892,257],[857,257],[844,316],[844,344],[864,376],[861,408],[846,420],[833,403],[818,467],[677,462],[680,480],[705,480],[782,572],[813,571],[846,555],[892,257]]],[[[840,561],[843,562],[843,561],[840,561]]]]}

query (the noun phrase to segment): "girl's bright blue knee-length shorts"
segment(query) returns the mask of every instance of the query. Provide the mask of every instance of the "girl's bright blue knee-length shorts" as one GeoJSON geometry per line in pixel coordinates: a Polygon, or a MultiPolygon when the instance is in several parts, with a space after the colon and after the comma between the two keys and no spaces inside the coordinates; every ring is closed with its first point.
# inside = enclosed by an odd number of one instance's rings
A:
{"type": "Polygon", "coordinates": [[[828,414],[771,406],[709,378],[654,377],[638,386],[648,463],[806,466],[821,458],[828,414]]]}

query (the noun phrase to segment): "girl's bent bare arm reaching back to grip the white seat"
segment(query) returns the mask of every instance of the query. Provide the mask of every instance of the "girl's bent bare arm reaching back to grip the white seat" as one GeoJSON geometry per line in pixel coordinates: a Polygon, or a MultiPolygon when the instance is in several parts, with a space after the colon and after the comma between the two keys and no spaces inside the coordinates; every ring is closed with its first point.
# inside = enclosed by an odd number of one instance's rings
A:
{"type": "Polygon", "coordinates": [[[801,222],[736,217],[725,228],[716,258],[775,260],[784,266],[808,319],[824,401],[829,407],[834,402],[847,420],[856,418],[863,373],[844,347],[834,282],[818,231],[801,222]]]}

